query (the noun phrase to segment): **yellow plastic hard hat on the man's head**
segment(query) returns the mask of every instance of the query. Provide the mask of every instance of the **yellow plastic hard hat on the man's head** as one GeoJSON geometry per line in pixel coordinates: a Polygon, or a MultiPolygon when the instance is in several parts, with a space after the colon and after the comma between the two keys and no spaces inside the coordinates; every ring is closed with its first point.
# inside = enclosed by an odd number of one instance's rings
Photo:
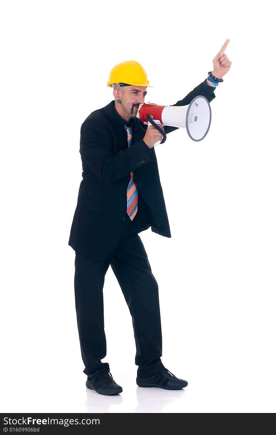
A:
{"type": "Polygon", "coordinates": [[[138,64],[135,60],[125,60],[112,68],[106,85],[112,87],[113,83],[153,87],[149,84],[146,71],[142,65],[138,64]]]}

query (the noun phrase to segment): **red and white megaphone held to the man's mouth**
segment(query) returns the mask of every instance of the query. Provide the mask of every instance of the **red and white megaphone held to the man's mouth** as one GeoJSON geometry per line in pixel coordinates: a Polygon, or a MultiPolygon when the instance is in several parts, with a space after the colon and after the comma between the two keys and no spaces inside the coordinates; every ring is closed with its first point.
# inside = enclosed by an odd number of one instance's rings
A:
{"type": "Polygon", "coordinates": [[[194,97],[189,106],[159,106],[154,103],[140,104],[136,117],[143,124],[154,125],[163,134],[163,141],[157,141],[154,146],[166,141],[166,134],[156,124],[171,127],[186,127],[189,137],[196,142],[202,141],[211,124],[211,107],[203,95],[194,97]]]}

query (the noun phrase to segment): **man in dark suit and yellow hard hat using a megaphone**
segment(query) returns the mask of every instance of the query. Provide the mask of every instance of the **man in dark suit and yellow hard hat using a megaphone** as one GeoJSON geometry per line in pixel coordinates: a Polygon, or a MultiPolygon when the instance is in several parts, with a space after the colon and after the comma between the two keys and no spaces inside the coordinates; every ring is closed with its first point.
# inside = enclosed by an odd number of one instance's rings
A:
{"type": "MultiPolygon", "coordinates": [[[[116,65],[107,85],[113,86],[115,101],[94,110],[81,126],[83,180],[69,240],[76,251],[76,316],[86,386],[104,395],[122,391],[109,364],[101,362],[106,356],[103,284],[111,265],[132,316],[137,385],[181,389],[188,382],[176,378],[160,359],[158,284],[138,235],[151,227],[171,237],[153,147],[163,136],[136,117],[151,86],[145,70],[134,60],[116,65]]],[[[174,106],[188,105],[197,95],[210,102],[214,89],[205,80],[174,106]]],[[[168,134],[176,127],[163,130],[168,134]]]]}

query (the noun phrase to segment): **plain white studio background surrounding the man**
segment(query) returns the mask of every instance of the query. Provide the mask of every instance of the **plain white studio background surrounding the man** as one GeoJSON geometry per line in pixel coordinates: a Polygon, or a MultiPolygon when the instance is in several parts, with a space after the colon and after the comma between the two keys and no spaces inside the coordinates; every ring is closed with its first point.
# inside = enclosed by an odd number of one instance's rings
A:
{"type": "Polygon", "coordinates": [[[1,7],[2,412],[275,412],[269,4],[1,7]],[[209,133],[194,142],[178,129],[155,147],[172,238],[140,234],[159,284],[162,361],[189,385],[137,387],[131,317],[109,268],[103,361],[123,393],[99,395],[85,386],[68,245],[80,126],[114,99],[115,64],[140,62],[154,86],[145,101],[175,104],[206,79],[227,38],[232,66],[210,103],[209,133]]]}

